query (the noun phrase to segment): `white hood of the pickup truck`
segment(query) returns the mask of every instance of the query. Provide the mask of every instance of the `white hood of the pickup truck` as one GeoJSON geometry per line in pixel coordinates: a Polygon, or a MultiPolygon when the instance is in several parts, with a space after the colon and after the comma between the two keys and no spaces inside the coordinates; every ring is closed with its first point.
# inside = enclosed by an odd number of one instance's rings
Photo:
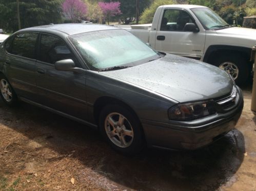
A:
{"type": "Polygon", "coordinates": [[[256,41],[256,29],[248,29],[243,27],[231,27],[227,29],[216,30],[216,33],[223,34],[223,35],[248,37],[256,41]]]}

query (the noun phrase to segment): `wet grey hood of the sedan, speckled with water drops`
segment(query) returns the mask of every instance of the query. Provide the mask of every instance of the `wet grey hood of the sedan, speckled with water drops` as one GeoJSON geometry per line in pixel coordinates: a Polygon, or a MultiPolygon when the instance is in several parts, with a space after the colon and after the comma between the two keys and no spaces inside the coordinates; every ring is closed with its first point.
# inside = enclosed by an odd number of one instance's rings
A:
{"type": "Polygon", "coordinates": [[[139,66],[101,73],[178,102],[221,97],[233,87],[233,81],[223,70],[171,54],[139,66]]]}

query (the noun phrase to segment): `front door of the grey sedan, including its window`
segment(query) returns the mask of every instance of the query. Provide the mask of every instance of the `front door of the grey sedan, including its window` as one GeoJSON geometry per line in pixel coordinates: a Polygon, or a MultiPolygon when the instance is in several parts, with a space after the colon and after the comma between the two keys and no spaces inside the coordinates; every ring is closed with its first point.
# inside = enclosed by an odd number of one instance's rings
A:
{"type": "Polygon", "coordinates": [[[67,44],[61,38],[42,33],[36,61],[36,86],[41,104],[79,119],[86,119],[86,77],[69,71],[57,71],[54,63],[73,59],[80,67],[67,44]]]}

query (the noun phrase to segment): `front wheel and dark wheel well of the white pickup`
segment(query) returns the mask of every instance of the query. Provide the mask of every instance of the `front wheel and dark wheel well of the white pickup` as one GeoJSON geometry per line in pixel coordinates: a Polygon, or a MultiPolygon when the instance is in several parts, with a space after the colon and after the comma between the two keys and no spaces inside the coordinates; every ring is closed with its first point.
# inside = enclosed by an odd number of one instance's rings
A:
{"type": "Polygon", "coordinates": [[[222,55],[215,59],[213,65],[225,70],[240,85],[243,85],[249,77],[247,60],[239,54],[222,55]]]}

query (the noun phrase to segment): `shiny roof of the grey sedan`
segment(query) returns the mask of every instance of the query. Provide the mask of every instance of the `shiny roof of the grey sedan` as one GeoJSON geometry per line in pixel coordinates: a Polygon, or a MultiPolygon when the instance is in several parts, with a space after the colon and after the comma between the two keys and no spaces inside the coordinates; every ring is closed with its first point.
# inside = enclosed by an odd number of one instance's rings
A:
{"type": "Polygon", "coordinates": [[[117,29],[108,25],[95,25],[95,24],[57,24],[57,25],[44,25],[38,27],[31,27],[27,29],[22,29],[19,32],[25,31],[37,31],[37,32],[60,32],[67,35],[80,34],[84,32],[93,32],[101,30],[113,30],[117,29]]]}

